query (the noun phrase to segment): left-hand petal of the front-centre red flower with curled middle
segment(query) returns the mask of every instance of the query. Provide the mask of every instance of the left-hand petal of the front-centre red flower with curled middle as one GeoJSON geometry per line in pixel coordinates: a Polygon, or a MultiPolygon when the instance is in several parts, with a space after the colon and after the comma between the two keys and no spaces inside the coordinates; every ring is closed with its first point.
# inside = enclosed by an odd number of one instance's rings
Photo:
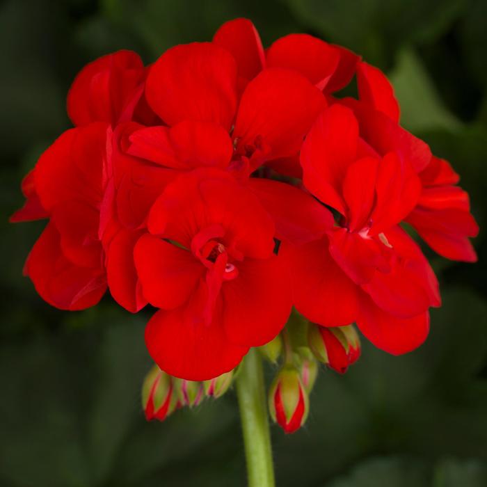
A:
{"type": "Polygon", "coordinates": [[[188,250],[149,234],[138,239],[134,260],[143,295],[165,310],[186,303],[206,270],[188,250]]]}

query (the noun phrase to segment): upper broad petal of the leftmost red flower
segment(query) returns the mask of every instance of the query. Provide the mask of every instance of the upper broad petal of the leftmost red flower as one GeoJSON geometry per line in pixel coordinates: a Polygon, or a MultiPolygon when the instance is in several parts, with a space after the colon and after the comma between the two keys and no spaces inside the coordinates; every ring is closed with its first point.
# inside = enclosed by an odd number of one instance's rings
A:
{"type": "Polygon", "coordinates": [[[34,182],[42,206],[80,200],[94,208],[103,198],[103,161],[106,157],[104,123],[65,131],[40,157],[34,182]]]}

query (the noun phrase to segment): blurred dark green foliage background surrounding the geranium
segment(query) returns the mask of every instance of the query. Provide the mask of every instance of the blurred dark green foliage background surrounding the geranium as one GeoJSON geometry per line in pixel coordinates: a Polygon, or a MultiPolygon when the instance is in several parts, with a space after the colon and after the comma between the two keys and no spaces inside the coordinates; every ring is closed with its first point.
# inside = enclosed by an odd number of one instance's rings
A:
{"type": "MultiPolygon", "coordinates": [[[[65,95],[88,61],[120,48],[146,62],[253,19],[264,44],[291,32],[341,43],[383,68],[402,122],[452,161],[485,227],[485,0],[7,0],[0,3],[0,486],[244,486],[233,394],[146,423],[147,316],[106,299],[86,312],[43,303],[22,264],[43,223],[9,225],[19,182],[69,126],[65,95]]],[[[487,310],[479,263],[431,257],[444,305],[420,350],[363,345],[346,376],[323,371],[306,426],[273,427],[278,486],[487,486],[487,310]]]]}

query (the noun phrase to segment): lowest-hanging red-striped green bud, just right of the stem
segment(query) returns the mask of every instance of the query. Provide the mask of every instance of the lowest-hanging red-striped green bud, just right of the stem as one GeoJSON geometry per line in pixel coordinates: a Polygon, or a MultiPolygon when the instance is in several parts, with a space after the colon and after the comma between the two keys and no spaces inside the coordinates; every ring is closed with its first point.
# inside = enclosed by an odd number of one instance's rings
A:
{"type": "Polygon", "coordinates": [[[305,423],[308,393],[294,367],[284,367],[274,379],[269,390],[269,411],[285,433],[293,433],[305,423]]]}

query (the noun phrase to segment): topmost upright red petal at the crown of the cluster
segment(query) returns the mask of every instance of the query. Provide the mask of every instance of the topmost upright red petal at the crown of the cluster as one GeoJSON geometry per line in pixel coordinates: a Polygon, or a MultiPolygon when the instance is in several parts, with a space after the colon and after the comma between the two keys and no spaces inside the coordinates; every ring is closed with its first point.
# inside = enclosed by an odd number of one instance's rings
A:
{"type": "Polygon", "coordinates": [[[213,37],[213,43],[224,47],[237,61],[239,76],[253,79],[264,69],[264,48],[259,33],[248,19],[225,22],[213,37]]]}

